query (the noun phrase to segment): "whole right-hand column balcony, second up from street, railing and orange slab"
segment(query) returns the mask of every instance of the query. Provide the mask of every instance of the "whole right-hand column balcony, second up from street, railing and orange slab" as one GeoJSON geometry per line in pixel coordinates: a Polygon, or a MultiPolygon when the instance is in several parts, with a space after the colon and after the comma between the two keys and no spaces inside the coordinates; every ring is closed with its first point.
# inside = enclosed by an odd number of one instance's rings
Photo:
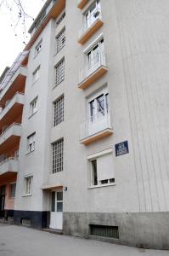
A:
{"type": "Polygon", "coordinates": [[[80,70],[78,87],[82,90],[97,81],[108,71],[104,52],[98,53],[80,70]]]}

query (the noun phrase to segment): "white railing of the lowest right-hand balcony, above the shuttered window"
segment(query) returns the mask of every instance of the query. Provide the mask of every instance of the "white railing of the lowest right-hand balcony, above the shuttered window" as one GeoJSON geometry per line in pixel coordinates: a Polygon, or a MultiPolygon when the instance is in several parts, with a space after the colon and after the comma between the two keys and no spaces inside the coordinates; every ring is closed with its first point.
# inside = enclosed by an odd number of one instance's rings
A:
{"type": "Polygon", "coordinates": [[[81,125],[81,140],[93,136],[99,131],[104,131],[105,129],[112,129],[110,111],[105,109],[99,112],[89,119],[84,121],[81,125]]]}

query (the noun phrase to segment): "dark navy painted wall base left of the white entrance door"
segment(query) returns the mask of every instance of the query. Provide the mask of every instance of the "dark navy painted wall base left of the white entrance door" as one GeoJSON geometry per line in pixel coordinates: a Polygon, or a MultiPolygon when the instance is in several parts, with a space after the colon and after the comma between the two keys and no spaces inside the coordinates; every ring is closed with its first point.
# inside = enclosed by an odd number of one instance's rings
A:
{"type": "Polygon", "coordinates": [[[48,228],[50,212],[14,211],[14,224],[22,224],[35,229],[48,228]]]}

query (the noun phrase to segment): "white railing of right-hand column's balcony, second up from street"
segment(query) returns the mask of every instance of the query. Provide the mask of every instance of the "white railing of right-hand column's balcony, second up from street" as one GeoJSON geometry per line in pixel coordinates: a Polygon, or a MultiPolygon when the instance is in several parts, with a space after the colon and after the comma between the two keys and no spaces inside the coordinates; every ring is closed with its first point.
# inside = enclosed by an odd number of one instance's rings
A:
{"type": "Polygon", "coordinates": [[[92,73],[94,73],[99,67],[106,67],[106,55],[104,52],[98,52],[92,59],[88,59],[85,66],[79,71],[79,83],[87,79],[92,73]]]}

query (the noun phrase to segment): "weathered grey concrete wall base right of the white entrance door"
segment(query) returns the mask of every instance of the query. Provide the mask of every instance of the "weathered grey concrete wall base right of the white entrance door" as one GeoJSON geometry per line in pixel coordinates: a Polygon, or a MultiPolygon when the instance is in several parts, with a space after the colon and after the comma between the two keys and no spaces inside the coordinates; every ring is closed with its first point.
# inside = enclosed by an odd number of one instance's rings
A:
{"type": "Polygon", "coordinates": [[[169,212],[64,212],[63,226],[65,235],[93,237],[132,247],[169,249],[169,212]]]}

